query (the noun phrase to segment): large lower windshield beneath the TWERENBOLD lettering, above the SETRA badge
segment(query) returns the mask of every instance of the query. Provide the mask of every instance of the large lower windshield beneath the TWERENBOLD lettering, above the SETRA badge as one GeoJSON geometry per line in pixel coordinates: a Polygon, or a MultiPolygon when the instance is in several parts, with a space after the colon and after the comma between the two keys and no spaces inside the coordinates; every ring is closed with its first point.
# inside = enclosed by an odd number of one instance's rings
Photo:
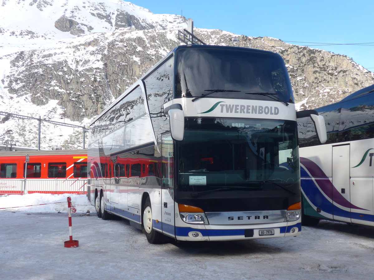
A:
{"type": "Polygon", "coordinates": [[[184,139],[177,142],[177,191],[297,192],[296,122],[233,118],[186,122],[184,139]]]}

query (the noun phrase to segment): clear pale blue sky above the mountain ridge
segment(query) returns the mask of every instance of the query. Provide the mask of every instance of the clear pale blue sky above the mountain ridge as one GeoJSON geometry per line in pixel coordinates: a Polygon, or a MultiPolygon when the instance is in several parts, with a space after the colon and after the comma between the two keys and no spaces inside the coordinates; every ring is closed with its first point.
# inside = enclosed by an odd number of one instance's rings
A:
{"type": "Polygon", "coordinates": [[[196,28],[221,29],[253,37],[268,36],[291,44],[308,45],[346,55],[374,72],[374,0],[130,2],[153,13],[192,18],[196,28]],[[341,45],[328,46],[326,43],[341,45]],[[371,44],[364,46],[364,43],[371,44]]]}

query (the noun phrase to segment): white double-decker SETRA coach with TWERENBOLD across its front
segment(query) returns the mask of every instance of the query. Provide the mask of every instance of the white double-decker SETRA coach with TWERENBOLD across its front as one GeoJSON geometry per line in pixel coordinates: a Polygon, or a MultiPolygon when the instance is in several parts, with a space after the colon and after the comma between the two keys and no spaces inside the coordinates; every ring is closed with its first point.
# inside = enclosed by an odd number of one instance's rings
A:
{"type": "Polygon", "coordinates": [[[296,111],[278,54],[179,46],[90,131],[89,200],[150,243],[300,234],[296,111]]]}

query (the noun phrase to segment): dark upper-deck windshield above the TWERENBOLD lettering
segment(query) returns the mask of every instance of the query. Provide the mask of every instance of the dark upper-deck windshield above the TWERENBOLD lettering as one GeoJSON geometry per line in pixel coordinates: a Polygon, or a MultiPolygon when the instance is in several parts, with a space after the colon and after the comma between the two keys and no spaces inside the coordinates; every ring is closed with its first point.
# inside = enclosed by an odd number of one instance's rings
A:
{"type": "Polygon", "coordinates": [[[278,100],[293,102],[285,64],[272,53],[189,48],[178,50],[176,62],[176,98],[215,91],[209,97],[272,100],[275,95],[278,100]]]}

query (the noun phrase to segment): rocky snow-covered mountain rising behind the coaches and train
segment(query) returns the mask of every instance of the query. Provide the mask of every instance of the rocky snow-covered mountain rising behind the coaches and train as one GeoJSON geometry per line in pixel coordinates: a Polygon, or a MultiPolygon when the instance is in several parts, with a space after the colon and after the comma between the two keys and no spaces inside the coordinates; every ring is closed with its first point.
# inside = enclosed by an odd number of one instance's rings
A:
{"type": "MultiPolygon", "coordinates": [[[[0,111],[77,125],[89,121],[181,44],[186,18],[122,0],[0,0],[0,111]]],[[[374,83],[352,59],[323,50],[197,29],[208,44],[272,50],[288,67],[301,108],[326,105],[374,83]]],[[[0,116],[0,145],[35,146],[37,122],[0,116]]],[[[82,131],[43,122],[42,147],[82,147],[82,131]]]]}

